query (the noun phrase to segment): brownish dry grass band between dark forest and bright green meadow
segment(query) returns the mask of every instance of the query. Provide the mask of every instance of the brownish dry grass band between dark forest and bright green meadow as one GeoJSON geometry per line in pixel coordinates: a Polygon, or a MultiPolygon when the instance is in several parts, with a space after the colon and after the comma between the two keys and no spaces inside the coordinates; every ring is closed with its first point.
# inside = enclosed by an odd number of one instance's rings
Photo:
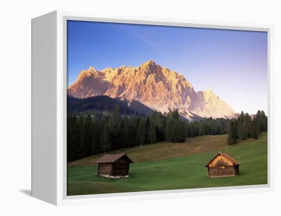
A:
{"type": "MultiPolygon", "coordinates": [[[[182,157],[188,155],[194,155],[198,153],[210,152],[214,150],[222,150],[228,148],[227,135],[217,136],[199,136],[197,138],[186,139],[182,143],[171,143],[171,142],[158,142],[151,145],[144,145],[142,147],[134,147],[130,149],[123,149],[129,157],[135,162],[148,162],[166,160],[175,157],[182,157]]],[[[235,146],[243,145],[254,139],[247,139],[239,141],[235,146]]],[[[120,153],[120,151],[109,152],[108,154],[120,153]]],[[[67,164],[68,167],[79,167],[79,166],[93,166],[97,165],[95,162],[97,159],[102,157],[104,154],[99,154],[91,157],[86,157],[81,160],[70,162],[67,164]]]]}

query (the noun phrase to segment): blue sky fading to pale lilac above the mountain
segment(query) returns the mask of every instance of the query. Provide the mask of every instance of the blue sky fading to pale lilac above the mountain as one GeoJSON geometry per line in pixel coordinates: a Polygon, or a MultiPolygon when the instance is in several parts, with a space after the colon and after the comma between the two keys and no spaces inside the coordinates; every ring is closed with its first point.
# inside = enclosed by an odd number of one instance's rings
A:
{"type": "Polygon", "coordinates": [[[67,85],[90,66],[153,60],[236,112],[267,113],[267,32],[67,21],[67,85]]]}

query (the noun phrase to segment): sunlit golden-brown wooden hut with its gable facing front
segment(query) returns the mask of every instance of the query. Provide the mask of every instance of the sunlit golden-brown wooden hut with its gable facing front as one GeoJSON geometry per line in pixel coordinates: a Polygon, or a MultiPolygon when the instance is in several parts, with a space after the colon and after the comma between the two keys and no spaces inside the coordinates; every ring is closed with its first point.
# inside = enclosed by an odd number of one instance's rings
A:
{"type": "Polygon", "coordinates": [[[218,153],[205,167],[208,167],[209,178],[230,177],[239,174],[241,164],[225,153],[218,153]]]}

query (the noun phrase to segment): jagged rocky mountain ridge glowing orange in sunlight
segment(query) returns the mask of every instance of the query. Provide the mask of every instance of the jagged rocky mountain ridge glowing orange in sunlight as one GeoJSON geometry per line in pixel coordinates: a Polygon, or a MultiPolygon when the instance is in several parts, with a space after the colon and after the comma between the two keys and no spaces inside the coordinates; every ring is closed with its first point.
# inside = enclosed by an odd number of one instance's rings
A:
{"type": "Polygon", "coordinates": [[[147,61],[137,67],[121,66],[82,70],[76,82],[67,88],[68,95],[89,98],[107,95],[110,98],[136,100],[163,112],[178,109],[186,118],[235,116],[235,111],[212,90],[198,91],[183,75],[147,61]]]}

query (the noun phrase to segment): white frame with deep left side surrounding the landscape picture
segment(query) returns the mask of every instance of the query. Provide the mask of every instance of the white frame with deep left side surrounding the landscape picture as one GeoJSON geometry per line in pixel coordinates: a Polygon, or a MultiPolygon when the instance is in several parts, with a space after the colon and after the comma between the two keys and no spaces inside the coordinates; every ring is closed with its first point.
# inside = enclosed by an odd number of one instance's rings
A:
{"type": "Polygon", "coordinates": [[[54,205],[152,200],[274,190],[274,26],[54,11],[32,19],[32,196],[54,205]],[[268,184],[66,196],[66,21],[264,31],[268,33],[268,184]]]}

